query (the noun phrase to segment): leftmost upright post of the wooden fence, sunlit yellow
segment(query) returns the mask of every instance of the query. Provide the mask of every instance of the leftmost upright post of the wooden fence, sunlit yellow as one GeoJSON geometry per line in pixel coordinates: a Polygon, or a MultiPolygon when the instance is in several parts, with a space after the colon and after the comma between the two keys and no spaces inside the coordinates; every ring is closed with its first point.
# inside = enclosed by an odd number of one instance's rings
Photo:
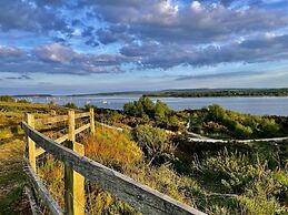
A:
{"type": "MultiPolygon", "coordinates": [[[[26,114],[26,122],[29,126],[34,129],[34,115],[27,113],[26,114]]],[[[28,157],[31,164],[32,170],[36,172],[36,144],[28,136],[28,157]]]]}

